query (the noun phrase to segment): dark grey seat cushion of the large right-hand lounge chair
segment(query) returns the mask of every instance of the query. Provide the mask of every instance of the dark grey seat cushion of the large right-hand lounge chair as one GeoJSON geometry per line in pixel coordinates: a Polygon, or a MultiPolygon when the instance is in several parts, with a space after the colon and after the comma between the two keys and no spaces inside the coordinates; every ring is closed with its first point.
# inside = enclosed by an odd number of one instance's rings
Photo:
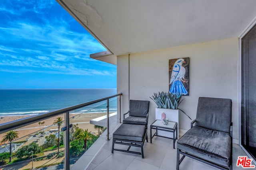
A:
{"type": "Polygon", "coordinates": [[[192,127],[177,141],[177,149],[222,166],[230,166],[231,137],[229,133],[192,127]]]}

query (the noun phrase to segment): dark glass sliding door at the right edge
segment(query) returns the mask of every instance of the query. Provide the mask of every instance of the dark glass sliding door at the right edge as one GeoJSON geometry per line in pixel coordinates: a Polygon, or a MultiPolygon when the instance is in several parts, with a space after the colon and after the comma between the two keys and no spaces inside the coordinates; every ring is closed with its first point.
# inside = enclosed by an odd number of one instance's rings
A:
{"type": "Polygon", "coordinates": [[[243,147],[256,158],[256,26],[241,39],[242,103],[241,140],[243,147]]]}

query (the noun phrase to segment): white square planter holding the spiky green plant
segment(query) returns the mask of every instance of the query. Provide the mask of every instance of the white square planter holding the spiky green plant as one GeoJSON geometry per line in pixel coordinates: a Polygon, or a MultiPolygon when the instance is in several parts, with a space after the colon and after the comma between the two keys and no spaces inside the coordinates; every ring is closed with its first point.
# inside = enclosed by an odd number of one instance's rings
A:
{"type": "MultiPolygon", "coordinates": [[[[169,121],[174,121],[177,122],[177,133],[178,133],[178,139],[179,139],[179,110],[174,110],[174,109],[160,109],[156,108],[156,119],[161,120],[162,118],[162,113],[166,114],[166,118],[169,119],[169,121]]],[[[175,133],[176,134],[176,133],[175,133]]],[[[165,136],[165,137],[170,137],[173,138],[173,133],[172,132],[166,132],[166,131],[158,131],[158,135],[165,136]]]]}

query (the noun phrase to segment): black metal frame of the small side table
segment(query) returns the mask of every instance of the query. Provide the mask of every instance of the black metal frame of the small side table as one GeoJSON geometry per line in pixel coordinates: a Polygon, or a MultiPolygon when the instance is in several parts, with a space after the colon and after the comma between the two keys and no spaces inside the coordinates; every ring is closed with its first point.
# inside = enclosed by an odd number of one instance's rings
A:
{"type": "MultiPolygon", "coordinates": [[[[178,137],[178,132],[177,132],[177,122],[175,122],[174,124],[174,128],[169,128],[169,127],[164,127],[164,126],[156,126],[153,125],[157,120],[155,120],[153,123],[151,123],[150,125],[150,143],[152,143],[152,138],[154,136],[159,136],[159,137],[164,137],[164,138],[168,138],[168,139],[173,139],[173,149],[175,149],[175,141],[178,137]],[[156,132],[154,133],[154,135],[152,136],[152,129],[156,129],[156,132]],[[176,137],[174,138],[170,138],[170,137],[165,137],[165,136],[161,136],[161,135],[157,135],[157,131],[167,131],[167,132],[172,132],[173,133],[173,137],[175,136],[175,131],[176,131],[176,137]]],[[[171,122],[171,121],[168,121],[171,122]]]]}

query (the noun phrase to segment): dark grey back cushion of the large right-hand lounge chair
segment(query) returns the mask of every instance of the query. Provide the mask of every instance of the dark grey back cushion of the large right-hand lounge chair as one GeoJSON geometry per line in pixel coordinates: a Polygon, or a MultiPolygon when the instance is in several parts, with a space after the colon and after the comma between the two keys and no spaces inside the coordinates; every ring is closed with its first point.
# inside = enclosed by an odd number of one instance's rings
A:
{"type": "Polygon", "coordinates": [[[196,126],[230,133],[232,101],[221,98],[198,99],[196,126]]]}

